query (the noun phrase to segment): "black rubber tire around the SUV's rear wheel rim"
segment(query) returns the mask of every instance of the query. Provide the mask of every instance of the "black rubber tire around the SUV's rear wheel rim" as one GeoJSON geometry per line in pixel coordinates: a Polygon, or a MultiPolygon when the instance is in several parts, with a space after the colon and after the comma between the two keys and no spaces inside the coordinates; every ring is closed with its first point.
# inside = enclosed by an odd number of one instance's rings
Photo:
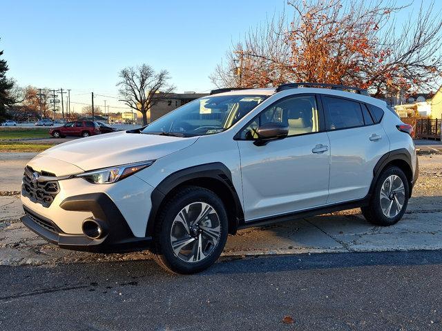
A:
{"type": "MultiPolygon", "coordinates": [[[[369,205],[367,207],[361,208],[361,210],[365,219],[367,219],[367,221],[373,223],[374,225],[380,225],[380,226],[394,225],[403,217],[405,210],[407,210],[409,196],[410,196],[410,186],[407,177],[400,168],[392,166],[383,170],[381,175],[378,177],[378,181],[376,182],[376,185],[374,187],[374,192],[372,198],[370,199],[369,205]],[[396,214],[394,217],[387,217],[384,214],[383,208],[381,206],[381,188],[387,177],[390,177],[392,175],[395,175],[402,180],[404,188],[403,194],[405,196],[405,200],[398,214],[396,214]]],[[[398,208],[396,208],[396,210],[398,210],[398,208]]]]}

